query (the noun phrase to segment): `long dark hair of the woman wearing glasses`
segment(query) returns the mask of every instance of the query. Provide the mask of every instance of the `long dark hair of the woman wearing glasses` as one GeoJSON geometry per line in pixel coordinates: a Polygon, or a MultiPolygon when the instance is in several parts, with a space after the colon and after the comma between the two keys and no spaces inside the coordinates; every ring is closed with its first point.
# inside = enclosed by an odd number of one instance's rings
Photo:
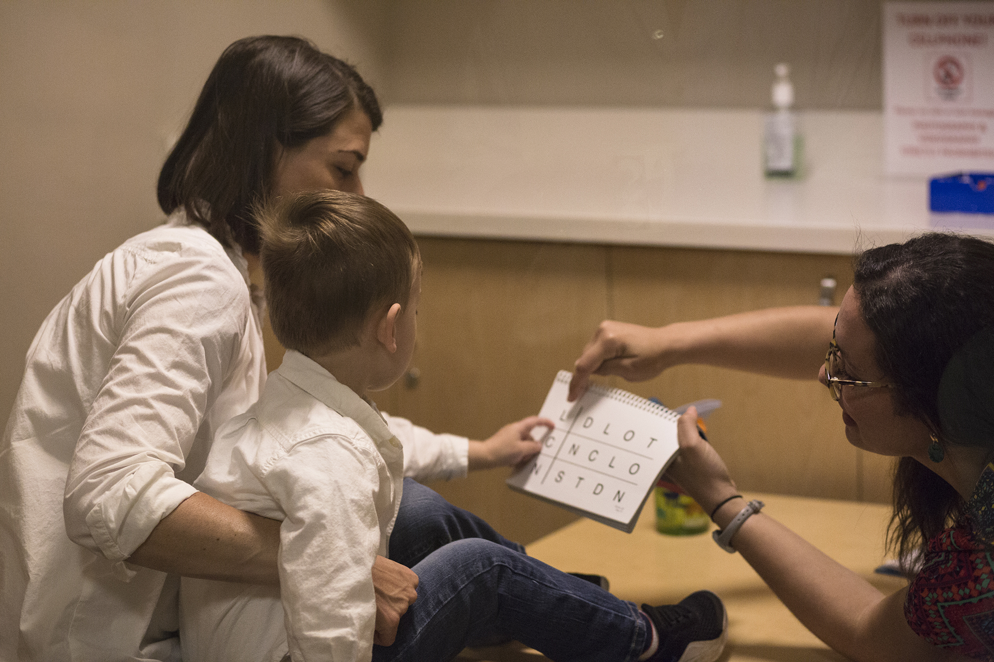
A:
{"type": "MultiPolygon", "coordinates": [[[[943,444],[994,449],[994,428],[962,438],[950,433],[949,417],[939,407],[950,359],[994,327],[994,244],[929,233],[872,248],[856,259],[854,287],[876,337],[877,364],[894,384],[896,413],[915,416],[943,444]]],[[[977,406],[994,410],[994,403],[977,406]]],[[[931,469],[902,457],[894,477],[892,549],[907,558],[949,523],[963,524],[965,505],[931,469]]]]}

